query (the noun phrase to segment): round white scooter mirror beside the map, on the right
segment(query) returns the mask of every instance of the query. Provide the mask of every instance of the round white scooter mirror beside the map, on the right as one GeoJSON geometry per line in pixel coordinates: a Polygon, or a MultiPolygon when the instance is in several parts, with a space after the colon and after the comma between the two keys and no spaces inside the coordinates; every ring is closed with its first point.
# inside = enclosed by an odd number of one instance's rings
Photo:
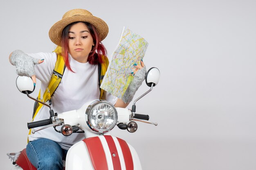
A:
{"type": "Polygon", "coordinates": [[[150,68],[148,70],[148,72],[146,73],[146,84],[148,85],[148,87],[151,87],[152,84],[153,86],[157,85],[158,81],[160,78],[160,71],[158,70],[158,68],[150,68]]]}

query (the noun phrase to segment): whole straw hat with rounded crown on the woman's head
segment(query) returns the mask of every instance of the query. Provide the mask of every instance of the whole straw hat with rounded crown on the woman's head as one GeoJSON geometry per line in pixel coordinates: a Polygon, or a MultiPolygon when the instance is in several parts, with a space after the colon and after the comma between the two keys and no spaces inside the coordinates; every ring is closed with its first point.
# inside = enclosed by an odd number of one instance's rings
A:
{"type": "Polygon", "coordinates": [[[65,26],[78,21],[89,22],[92,24],[96,28],[101,41],[108,35],[108,25],[106,22],[98,17],[94,17],[92,13],[85,9],[72,9],[63,15],[62,20],[56,22],[52,28],[50,28],[49,37],[52,42],[61,46],[61,33],[65,26]]]}

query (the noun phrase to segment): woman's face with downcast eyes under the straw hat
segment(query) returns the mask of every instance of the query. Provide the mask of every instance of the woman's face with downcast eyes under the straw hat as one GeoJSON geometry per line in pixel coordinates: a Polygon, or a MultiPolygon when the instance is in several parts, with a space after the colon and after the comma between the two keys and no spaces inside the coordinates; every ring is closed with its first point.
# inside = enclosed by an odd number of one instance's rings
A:
{"type": "Polygon", "coordinates": [[[86,63],[88,55],[94,46],[92,35],[83,22],[70,27],[68,32],[68,52],[80,63],[86,63]]]}

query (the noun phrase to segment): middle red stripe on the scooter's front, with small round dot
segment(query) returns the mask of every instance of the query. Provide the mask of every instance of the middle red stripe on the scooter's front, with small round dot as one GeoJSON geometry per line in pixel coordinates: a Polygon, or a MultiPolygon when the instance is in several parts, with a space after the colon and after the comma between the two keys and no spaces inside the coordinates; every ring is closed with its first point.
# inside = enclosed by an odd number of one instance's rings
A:
{"type": "Polygon", "coordinates": [[[112,136],[104,135],[104,137],[108,143],[108,148],[110,150],[114,170],[121,170],[121,163],[120,163],[119,155],[117,153],[117,147],[115,145],[115,142],[112,136]],[[115,157],[113,156],[113,154],[115,154],[115,157]]]}

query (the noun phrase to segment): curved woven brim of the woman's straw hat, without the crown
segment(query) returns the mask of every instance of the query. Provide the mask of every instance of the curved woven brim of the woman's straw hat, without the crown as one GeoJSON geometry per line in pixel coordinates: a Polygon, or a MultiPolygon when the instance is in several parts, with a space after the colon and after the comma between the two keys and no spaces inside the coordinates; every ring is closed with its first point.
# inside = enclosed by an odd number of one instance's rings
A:
{"type": "Polygon", "coordinates": [[[51,41],[54,44],[61,46],[61,33],[62,33],[63,29],[65,28],[65,26],[67,26],[68,24],[71,24],[73,22],[89,22],[90,24],[92,24],[96,28],[101,41],[103,39],[105,39],[106,36],[108,35],[108,25],[106,24],[106,22],[104,22],[100,18],[94,17],[94,16],[76,15],[76,16],[67,17],[65,19],[62,19],[62,20],[56,22],[50,28],[49,37],[50,37],[51,41]]]}

